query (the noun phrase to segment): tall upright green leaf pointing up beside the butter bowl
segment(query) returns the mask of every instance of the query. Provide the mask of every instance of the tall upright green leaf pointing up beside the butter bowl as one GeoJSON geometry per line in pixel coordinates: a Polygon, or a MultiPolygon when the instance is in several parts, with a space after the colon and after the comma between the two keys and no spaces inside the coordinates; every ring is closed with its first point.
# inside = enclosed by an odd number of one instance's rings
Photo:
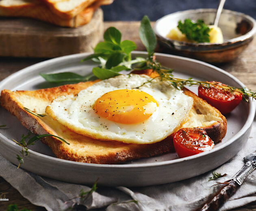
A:
{"type": "Polygon", "coordinates": [[[148,54],[152,55],[156,48],[156,35],[150,25],[150,19],[146,15],[141,20],[139,37],[141,38],[143,45],[146,47],[148,54]]]}

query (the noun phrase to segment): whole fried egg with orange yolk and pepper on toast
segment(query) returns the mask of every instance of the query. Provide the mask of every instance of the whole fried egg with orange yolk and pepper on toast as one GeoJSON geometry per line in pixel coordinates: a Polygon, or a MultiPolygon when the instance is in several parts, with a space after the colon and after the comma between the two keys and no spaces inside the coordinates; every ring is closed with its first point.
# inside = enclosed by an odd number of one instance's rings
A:
{"type": "Polygon", "coordinates": [[[60,96],[46,113],[85,136],[104,141],[150,144],[187,121],[193,98],[147,75],[119,75],[94,83],[77,96],[60,96]]]}

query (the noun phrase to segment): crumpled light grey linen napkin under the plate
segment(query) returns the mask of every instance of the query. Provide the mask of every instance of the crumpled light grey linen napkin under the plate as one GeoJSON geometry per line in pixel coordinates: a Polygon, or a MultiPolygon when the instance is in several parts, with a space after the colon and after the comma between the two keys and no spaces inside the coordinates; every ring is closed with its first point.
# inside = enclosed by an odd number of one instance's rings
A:
{"type": "MultiPolygon", "coordinates": [[[[243,166],[243,157],[256,150],[256,120],[247,144],[239,153],[222,166],[214,169],[226,173],[217,179],[230,179],[243,166]]],[[[213,158],[214,159],[214,158],[213,158]]],[[[216,158],[217,159],[217,158],[216,158]]],[[[74,204],[84,205],[80,210],[106,211],[192,211],[214,192],[216,181],[208,181],[212,171],[183,181],[142,188],[98,187],[92,194],[80,198],[80,190],[90,191],[91,187],[56,181],[27,172],[0,156],[0,176],[17,189],[34,205],[48,211],[64,211],[74,204]],[[99,209],[100,208],[100,209],[99,209]]],[[[256,201],[256,171],[249,175],[237,192],[223,205],[221,211],[234,209],[256,201]]],[[[74,209],[75,210],[75,209],[74,209]]]]}

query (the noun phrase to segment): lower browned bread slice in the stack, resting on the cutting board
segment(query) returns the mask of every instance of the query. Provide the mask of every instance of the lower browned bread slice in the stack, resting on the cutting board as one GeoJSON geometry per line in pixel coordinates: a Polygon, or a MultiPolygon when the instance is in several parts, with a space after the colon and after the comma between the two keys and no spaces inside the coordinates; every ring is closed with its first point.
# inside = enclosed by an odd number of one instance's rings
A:
{"type": "Polygon", "coordinates": [[[43,2],[35,0],[1,0],[0,16],[29,17],[53,23],[58,26],[78,27],[89,23],[94,11],[104,2],[102,0],[95,1],[74,17],[66,18],[53,13],[43,2]]]}

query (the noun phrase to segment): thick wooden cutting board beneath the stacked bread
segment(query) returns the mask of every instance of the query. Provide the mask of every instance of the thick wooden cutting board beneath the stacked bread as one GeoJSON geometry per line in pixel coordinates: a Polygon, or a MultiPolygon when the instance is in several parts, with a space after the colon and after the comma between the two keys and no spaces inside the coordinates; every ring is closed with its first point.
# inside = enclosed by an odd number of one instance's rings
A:
{"type": "Polygon", "coordinates": [[[0,56],[54,58],[90,52],[103,36],[103,12],[89,23],[65,28],[26,18],[0,17],[0,56]]]}

